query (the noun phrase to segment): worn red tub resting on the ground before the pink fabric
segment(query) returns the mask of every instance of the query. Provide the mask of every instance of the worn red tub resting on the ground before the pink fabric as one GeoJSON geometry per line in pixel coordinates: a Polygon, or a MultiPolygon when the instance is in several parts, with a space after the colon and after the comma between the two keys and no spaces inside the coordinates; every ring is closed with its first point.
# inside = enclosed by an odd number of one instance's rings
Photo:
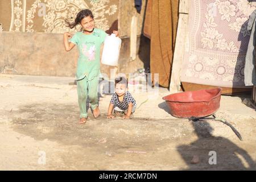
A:
{"type": "Polygon", "coordinates": [[[221,88],[170,94],[163,97],[177,118],[207,117],[220,108],[221,88]]]}

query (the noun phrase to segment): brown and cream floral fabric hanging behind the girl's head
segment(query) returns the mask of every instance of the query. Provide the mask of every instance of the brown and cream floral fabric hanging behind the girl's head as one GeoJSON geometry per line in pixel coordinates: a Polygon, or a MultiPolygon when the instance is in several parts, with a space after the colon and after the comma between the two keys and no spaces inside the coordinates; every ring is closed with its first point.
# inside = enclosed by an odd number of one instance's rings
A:
{"type": "Polygon", "coordinates": [[[118,3],[118,0],[1,1],[0,20],[5,31],[63,33],[71,31],[65,27],[65,18],[73,22],[80,10],[90,9],[96,27],[108,30],[117,19],[118,3]]]}

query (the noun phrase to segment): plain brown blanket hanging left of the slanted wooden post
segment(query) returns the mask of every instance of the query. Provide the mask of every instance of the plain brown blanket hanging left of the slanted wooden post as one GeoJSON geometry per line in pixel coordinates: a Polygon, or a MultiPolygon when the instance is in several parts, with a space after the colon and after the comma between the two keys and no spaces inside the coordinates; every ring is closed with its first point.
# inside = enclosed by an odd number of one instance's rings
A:
{"type": "Polygon", "coordinates": [[[177,31],[179,0],[152,0],[150,71],[159,74],[159,85],[169,87],[177,31]]]}

